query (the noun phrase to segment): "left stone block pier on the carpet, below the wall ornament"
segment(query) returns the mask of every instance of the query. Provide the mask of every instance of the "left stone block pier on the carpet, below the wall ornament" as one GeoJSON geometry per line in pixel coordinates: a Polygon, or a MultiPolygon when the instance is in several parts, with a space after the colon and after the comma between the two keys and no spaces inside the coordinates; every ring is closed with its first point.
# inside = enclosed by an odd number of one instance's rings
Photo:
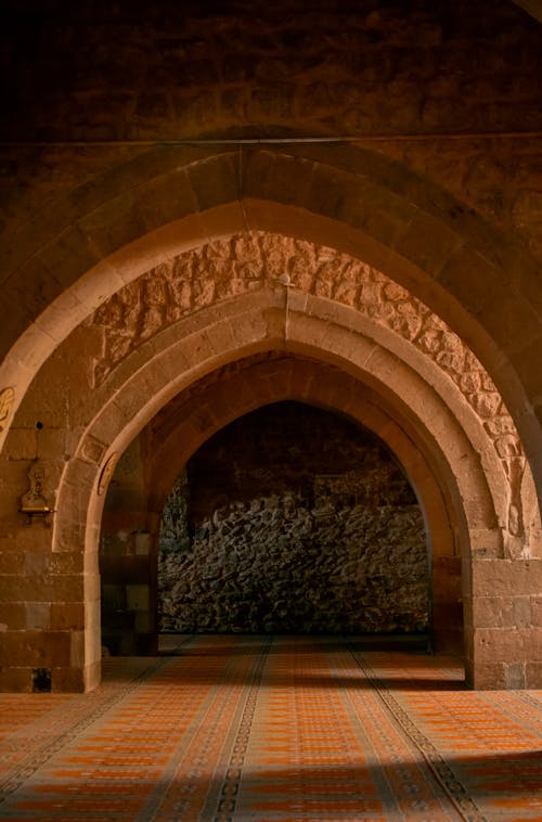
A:
{"type": "Polygon", "coordinates": [[[95,581],[82,551],[51,551],[51,529],[23,526],[0,541],[0,690],[81,692],[100,681],[89,659],[95,581]]]}

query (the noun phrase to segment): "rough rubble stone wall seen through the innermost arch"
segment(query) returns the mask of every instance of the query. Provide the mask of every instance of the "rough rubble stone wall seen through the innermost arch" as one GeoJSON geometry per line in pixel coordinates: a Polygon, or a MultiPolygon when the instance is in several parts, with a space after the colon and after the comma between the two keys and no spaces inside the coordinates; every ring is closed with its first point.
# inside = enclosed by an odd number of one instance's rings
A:
{"type": "Polygon", "coordinates": [[[163,630],[425,631],[422,513],[373,435],[269,406],[211,438],[179,477],[158,586],[163,630]]]}

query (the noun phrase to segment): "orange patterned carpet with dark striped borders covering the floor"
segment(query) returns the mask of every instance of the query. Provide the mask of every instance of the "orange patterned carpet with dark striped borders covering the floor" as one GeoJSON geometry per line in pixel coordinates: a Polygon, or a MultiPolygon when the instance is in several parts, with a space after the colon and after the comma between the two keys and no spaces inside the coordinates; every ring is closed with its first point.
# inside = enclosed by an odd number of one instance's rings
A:
{"type": "Polygon", "coordinates": [[[0,819],[542,820],[542,692],[350,638],[184,637],[0,694],[0,819]]]}

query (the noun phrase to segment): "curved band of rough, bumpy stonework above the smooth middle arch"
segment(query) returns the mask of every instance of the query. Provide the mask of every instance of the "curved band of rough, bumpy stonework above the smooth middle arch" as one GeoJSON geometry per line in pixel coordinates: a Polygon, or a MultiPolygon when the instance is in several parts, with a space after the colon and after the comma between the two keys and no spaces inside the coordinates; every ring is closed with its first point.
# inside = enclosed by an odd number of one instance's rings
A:
{"type": "MultiPolygon", "coordinates": [[[[400,284],[364,262],[302,240],[251,232],[215,241],[162,264],[117,292],[92,320],[103,327],[105,341],[104,357],[95,363],[95,385],[163,327],[212,303],[266,285],[278,287],[285,272],[291,287],[357,309],[431,359],[483,423],[514,484],[509,462],[524,460],[519,436],[470,349],[400,284]]],[[[511,504],[517,508],[516,502],[511,504]]]]}

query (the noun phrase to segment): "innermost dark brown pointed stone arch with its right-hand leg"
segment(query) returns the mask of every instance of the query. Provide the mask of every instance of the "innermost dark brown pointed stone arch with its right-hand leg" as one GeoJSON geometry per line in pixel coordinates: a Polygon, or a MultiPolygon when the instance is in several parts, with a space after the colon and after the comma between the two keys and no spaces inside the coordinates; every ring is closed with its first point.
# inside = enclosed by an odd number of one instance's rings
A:
{"type": "MultiPolygon", "coordinates": [[[[285,399],[340,413],[377,435],[415,489],[426,523],[429,573],[436,591],[433,640],[439,648],[462,653],[457,542],[462,542],[466,526],[462,512],[454,511],[442,473],[410,436],[406,422],[390,416],[375,391],[324,362],[283,351],[272,357],[237,360],[232,365],[224,369],[231,371],[227,378],[217,380],[214,374],[203,378],[193,389],[175,398],[152,422],[152,458],[147,470],[155,541],[166,497],[178,472],[217,429],[257,408],[285,399]],[[202,419],[202,407],[212,408],[212,416],[202,419]]],[[[468,588],[464,593],[468,599],[468,588]]]]}

